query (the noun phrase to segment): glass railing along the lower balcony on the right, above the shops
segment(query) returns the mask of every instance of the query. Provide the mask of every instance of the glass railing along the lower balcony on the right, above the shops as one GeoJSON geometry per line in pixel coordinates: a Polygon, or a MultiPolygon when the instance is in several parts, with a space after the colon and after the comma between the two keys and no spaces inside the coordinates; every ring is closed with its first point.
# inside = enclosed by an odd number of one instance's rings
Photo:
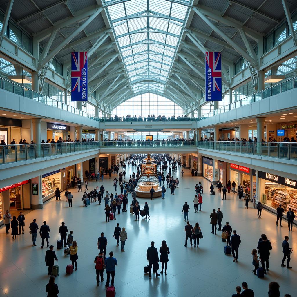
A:
{"type": "Polygon", "coordinates": [[[238,154],[297,160],[297,143],[249,141],[198,141],[198,149],[199,148],[238,154]]]}

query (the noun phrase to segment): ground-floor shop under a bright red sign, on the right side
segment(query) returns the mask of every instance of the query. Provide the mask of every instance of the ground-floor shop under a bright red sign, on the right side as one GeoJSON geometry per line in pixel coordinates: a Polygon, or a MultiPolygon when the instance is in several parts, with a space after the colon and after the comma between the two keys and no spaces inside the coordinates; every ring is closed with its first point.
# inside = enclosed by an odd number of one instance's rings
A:
{"type": "MultiPolygon", "coordinates": [[[[230,181],[236,183],[236,191],[239,184],[242,185],[244,193],[251,195],[251,173],[248,167],[230,163],[230,181]]],[[[253,195],[253,194],[252,194],[253,195]]]]}

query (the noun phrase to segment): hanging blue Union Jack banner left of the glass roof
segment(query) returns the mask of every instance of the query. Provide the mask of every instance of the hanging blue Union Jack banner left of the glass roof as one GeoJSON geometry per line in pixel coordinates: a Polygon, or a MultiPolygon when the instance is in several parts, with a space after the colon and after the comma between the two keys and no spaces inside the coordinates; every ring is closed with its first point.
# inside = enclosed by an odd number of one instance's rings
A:
{"type": "Polygon", "coordinates": [[[88,101],[88,52],[71,53],[71,101],[88,101]]]}

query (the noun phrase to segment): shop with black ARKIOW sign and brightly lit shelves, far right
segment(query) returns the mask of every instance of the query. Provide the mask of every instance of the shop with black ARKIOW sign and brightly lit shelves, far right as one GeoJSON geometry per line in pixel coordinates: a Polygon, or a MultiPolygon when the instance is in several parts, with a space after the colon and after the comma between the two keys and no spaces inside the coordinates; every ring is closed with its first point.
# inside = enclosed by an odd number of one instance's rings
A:
{"type": "Polygon", "coordinates": [[[285,212],[289,208],[297,212],[297,181],[262,171],[258,171],[258,176],[263,205],[275,212],[279,204],[282,204],[285,212]]]}

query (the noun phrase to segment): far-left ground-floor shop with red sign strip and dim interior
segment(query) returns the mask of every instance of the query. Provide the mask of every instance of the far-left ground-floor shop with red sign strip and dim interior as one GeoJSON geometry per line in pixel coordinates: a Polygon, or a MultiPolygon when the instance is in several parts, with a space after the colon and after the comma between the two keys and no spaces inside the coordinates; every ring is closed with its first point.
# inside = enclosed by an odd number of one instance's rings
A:
{"type": "Polygon", "coordinates": [[[30,197],[30,180],[0,188],[0,225],[6,210],[14,216],[21,209],[30,209],[30,197]]]}

